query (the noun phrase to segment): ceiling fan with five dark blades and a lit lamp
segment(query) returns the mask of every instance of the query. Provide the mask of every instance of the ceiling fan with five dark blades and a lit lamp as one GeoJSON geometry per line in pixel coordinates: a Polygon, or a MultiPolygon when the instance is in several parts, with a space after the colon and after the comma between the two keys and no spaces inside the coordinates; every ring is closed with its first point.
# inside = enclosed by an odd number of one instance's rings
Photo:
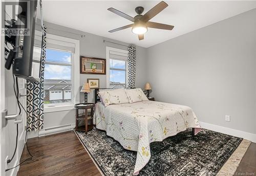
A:
{"type": "Polygon", "coordinates": [[[162,1],[158,5],[156,5],[152,9],[150,9],[148,12],[146,12],[144,15],[141,15],[141,13],[144,11],[144,8],[141,7],[141,6],[136,7],[135,11],[138,15],[136,15],[135,17],[127,15],[127,14],[111,7],[111,8],[108,9],[109,11],[111,11],[111,12],[113,12],[113,13],[121,16],[121,17],[124,17],[126,19],[129,19],[130,21],[132,21],[134,23],[131,24],[131,25],[126,25],[126,26],[117,28],[117,29],[113,29],[109,32],[112,33],[112,32],[116,32],[116,31],[120,31],[120,30],[132,27],[132,32],[135,33],[135,34],[138,34],[139,40],[143,40],[144,39],[144,33],[147,32],[147,28],[172,30],[174,28],[174,26],[172,26],[172,25],[165,25],[165,24],[155,23],[155,22],[149,21],[151,18],[156,16],[158,13],[160,13],[167,6],[168,6],[168,4],[166,4],[165,2],[162,1]]]}

